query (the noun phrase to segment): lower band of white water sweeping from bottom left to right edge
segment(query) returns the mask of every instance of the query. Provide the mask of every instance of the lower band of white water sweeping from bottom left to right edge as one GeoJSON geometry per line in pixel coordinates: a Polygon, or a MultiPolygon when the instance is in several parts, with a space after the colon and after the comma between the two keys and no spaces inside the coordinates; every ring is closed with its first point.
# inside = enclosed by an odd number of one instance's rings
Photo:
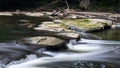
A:
{"type": "MultiPolygon", "coordinates": [[[[7,68],[54,68],[54,64],[57,62],[71,62],[71,61],[98,61],[98,62],[108,62],[108,63],[120,63],[120,53],[114,53],[113,49],[90,52],[90,53],[75,53],[75,54],[60,54],[54,57],[43,57],[21,64],[11,65],[7,68]],[[53,66],[53,67],[52,67],[53,66]]],[[[56,68],[60,64],[56,64],[56,68]]],[[[67,67],[69,68],[69,67],[67,67]]]]}

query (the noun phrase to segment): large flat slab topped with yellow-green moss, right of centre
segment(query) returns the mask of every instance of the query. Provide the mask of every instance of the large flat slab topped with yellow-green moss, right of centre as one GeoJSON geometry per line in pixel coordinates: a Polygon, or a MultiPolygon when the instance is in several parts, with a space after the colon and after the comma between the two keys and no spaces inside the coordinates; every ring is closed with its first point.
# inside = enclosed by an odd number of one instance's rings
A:
{"type": "Polygon", "coordinates": [[[105,19],[63,19],[54,20],[54,23],[65,24],[70,29],[82,32],[92,32],[110,28],[113,22],[105,19]]]}

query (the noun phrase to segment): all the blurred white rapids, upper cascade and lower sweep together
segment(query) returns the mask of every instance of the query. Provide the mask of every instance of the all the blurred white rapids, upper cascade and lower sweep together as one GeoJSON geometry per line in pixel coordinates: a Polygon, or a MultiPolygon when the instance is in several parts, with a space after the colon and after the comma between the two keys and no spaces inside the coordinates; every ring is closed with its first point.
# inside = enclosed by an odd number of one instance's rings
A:
{"type": "Polygon", "coordinates": [[[50,63],[52,66],[54,62],[70,62],[76,60],[120,64],[119,41],[81,39],[81,41],[78,42],[79,44],[76,45],[72,45],[72,42],[74,43],[74,41],[70,41],[67,45],[68,50],[72,50],[72,52],[45,51],[43,53],[52,55],[53,57],[43,57],[20,64],[8,65],[7,68],[49,68],[47,65],[50,63]],[[76,53],[74,51],[82,53],[76,53]]]}

